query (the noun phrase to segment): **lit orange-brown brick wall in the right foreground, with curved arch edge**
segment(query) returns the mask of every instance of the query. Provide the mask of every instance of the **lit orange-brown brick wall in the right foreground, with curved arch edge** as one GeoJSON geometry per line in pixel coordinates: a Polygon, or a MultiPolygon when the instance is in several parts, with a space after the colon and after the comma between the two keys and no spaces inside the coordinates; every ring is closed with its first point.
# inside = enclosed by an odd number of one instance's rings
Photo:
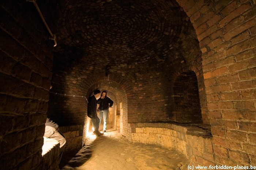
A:
{"type": "Polygon", "coordinates": [[[216,164],[255,162],[255,1],[178,3],[202,51],[216,164]]]}

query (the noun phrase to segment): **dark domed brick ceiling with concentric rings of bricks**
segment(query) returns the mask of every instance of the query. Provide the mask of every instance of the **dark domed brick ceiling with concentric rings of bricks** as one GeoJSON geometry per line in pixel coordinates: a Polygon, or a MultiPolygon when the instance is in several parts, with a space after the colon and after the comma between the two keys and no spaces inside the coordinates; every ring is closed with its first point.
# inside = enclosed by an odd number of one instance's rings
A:
{"type": "Polygon", "coordinates": [[[71,0],[58,24],[54,52],[112,68],[172,63],[196,39],[175,0],[71,0]]]}

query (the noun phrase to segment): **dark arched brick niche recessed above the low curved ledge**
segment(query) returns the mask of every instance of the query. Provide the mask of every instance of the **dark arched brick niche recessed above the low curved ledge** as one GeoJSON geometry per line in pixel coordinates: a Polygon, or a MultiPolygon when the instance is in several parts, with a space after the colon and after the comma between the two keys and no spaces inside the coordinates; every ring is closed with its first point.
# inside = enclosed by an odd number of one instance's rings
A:
{"type": "Polygon", "coordinates": [[[202,123],[200,99],[195,72],[189,70],[178,76],[173,87],[175,121],[202,123]]]}

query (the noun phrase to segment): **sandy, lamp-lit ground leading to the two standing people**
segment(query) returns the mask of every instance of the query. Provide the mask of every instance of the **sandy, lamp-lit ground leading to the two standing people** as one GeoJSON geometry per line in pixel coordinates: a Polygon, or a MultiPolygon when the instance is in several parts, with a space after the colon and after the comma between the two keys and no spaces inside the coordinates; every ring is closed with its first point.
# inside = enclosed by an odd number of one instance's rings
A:
{"type": "MultiPolygon", "coordinates": [[[[99,130],[102,130],[102,127],[99,130]]],[[[90,133],[86,145],[60,169],[187,170],[187,166],[187,158],[175,150],[159,145],[130,142],[118,131],[107,129],[100,137],[90,133]]]]}

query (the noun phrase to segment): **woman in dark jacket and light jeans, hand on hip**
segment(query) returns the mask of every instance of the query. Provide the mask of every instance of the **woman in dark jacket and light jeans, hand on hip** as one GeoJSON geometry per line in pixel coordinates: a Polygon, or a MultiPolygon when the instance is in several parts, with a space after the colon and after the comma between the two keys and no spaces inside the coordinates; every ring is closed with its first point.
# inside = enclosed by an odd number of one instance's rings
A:
{"type": "Polygon", "coordinates": [[[104,90],[97,103],[99,104],[99,122],[101,122],[103,116],[103,131],[106,132],[109,107],[112,107],[114,102],[107,96],[107,91],[104,90]]]}

